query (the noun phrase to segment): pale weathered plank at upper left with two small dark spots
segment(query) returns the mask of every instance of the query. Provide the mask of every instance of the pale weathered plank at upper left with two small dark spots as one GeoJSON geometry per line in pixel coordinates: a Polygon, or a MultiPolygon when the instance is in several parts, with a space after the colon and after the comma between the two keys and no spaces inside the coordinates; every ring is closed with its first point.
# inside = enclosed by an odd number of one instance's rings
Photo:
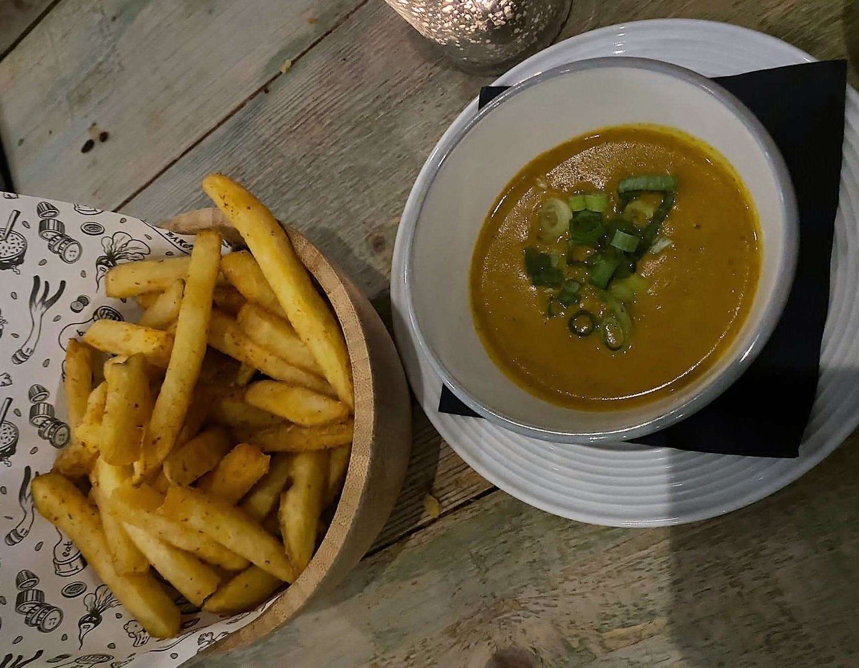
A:
{"type": "Polygon", "coordinates": [[[64,0],[0,62],[15,185],[115,208],[363,1],[64,0]]]}

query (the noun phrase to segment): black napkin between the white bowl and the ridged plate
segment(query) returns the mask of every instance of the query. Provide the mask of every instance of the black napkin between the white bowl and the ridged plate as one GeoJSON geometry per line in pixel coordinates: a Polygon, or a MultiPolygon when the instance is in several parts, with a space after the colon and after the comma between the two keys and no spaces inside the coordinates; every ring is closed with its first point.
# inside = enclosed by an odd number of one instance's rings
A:
{"type": "MultiPolygon", "coordinates": [[[[800,213],[796,276],[776,330],[746,373],[698,413],[636,441],[694,452],[797,457],[817,390],[829,303],[847,64],[789,65],[714,81],[760,119],[787,162],[800,213]]],[[[481,89],[480,106],[506,88],[481,89]]],[[[477,417],[447,386],[438,410],[477,417]]]]}

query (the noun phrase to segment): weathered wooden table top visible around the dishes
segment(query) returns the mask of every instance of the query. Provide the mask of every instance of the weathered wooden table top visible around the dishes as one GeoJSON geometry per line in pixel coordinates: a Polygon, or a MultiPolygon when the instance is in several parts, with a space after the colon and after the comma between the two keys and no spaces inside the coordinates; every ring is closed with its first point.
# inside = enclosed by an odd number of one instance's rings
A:
{"type": "MultiPolygon", "coordinates": [[[[859,57],[853,0],[574,0],[562,36],[665,16],[859,57]]],[[[487,81],[381,0],[11,0],[0,54],[21,192],[158,220],[204,204],[200,178],[220,170],[382,311],[412,180],[487,81]],[[109,137],[83,153],[91,124],[109,137]]],[[[856,434],[752,507],[643,531],[515,501],[419,411],[414,434],[399,504],[344,585],[265,641],[188,665],[859,665],[856,434]]]]}

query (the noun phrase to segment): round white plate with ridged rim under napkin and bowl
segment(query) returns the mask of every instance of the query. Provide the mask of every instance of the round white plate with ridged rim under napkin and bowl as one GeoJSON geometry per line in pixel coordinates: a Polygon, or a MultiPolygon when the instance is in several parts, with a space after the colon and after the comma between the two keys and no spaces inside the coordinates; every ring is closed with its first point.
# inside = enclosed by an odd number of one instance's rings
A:
{"type": "MultiPolygon", "coordinates": [[[[496,85],[583,58],[637,56],[724,76],[814,58],[780,39],[712,21],[656,20],[600,28],[567,39],[517,65],[496,85]]],[[[466,106],[448,132],[477,111],[466,106]]],[[[859,94],[848,88],[841,199],[835,219],[829,316],[820,354],[817,398],[800,457],[771,459],[684,452],[618,443],[552,444],[486,420],[438,412],[442,381],[417,353],[405,309],[405,231],[415,224],[414,192],[405,204],[393,252],[394,331],[411,387],[444,440],[499,488],[549,513],[600,525],[676,525],[729,513],[771,495],[818,464],[859,423],[859,94]]],[[[424,169],[426,167],[424,166],[424,169]]]]}

